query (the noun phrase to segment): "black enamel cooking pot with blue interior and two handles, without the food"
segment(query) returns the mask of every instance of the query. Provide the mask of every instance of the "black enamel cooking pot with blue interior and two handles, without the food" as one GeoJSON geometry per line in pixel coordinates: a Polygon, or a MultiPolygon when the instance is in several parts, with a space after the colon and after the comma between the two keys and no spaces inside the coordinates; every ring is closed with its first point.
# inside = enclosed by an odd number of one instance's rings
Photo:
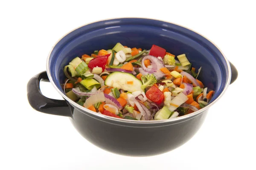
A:
{"type": "MultiPolygon", "coordinates": [[[[126,156],[166,153],[187,142],[198,131],[208,109],[236,80],[237,70],[216,45],[189,28],[161,20],[116,18],[86,24],[62,37],[47,58],[47,71],[32,77],[27,85],[30,105],[37,111],[67,116],[79,133],[92,144],[126,156]],[[152,44],[172,54],[186,54],[199,79],[215,91],[209,104],[199,111],[174,119],[136,121],[117,119],[90,111],[70,100],[61,88],[64,66],[73,58],[116,44],[150,49],[152,44]],[[64,100],[41,94],[41,79],[48,79],[64,100]]],[[[121,78],[121,77],[120,77],[121,78]]]]}

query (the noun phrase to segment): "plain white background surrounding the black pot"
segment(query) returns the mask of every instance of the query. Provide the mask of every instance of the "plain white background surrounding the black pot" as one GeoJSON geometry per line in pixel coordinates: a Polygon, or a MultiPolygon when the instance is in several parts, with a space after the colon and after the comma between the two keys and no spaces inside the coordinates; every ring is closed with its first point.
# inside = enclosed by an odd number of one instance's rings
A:
{"type": "MultiPolygon", "coordinates": [[[[40,2],[0,3],[0,170],[256,168],[253,3],[40,2]],[[26,83],[46,70],[47,55],[59,38],[78,26],[113,17],[148,17],[192,28],[215,42],[239,71],[239,78],[210,108],[198,133],[176,150],[143,158],[108,153],[80,136],[69,118],[37,112],[27,102],[26,83]]],[[[61,98],[51,84],[43,87],[47,96],[61,98]]]]}

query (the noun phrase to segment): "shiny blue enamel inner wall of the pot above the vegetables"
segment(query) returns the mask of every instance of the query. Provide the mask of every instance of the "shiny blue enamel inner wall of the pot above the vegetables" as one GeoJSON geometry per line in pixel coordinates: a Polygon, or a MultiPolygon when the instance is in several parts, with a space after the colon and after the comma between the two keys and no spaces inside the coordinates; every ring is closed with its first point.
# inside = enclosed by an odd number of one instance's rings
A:
{"type": "Polygon", "coordinates": [[[111,49],[116,42],[147,50],[155,44],[176,56],[185,53],[196,71],[202,66],[198,79],[215,90],[212,101],[221,94],[228,81],[226,60],[218,48],[201,35],[163,21],[122,18],[82,26],[55,45],[49,58],[49,70],[57,87],[61,90],[64,66],[74,57],[111,49]]]}

